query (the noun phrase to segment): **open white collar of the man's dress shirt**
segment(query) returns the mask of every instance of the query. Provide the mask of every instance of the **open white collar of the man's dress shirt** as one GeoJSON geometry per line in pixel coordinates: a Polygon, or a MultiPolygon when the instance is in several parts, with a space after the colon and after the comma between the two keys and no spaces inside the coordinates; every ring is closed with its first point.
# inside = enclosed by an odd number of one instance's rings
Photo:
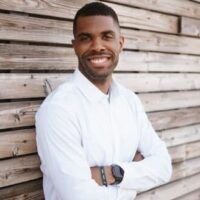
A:
{"type": "Polygon", "coordinates": [[[109,100],[111,100],[114,96],[118,94],[118,85],[114,81],[114,79],[112,79],[112,84],[109,89],[109,95],[106,95],[100,89],[98,89],[80,72],[78,68],[74,72],[73,80],[80,89],[80,91],[83,93],[83,95],[86,96],[86,98],[92,102],[99,102],[100,100],[108,98],[109,100]]]}

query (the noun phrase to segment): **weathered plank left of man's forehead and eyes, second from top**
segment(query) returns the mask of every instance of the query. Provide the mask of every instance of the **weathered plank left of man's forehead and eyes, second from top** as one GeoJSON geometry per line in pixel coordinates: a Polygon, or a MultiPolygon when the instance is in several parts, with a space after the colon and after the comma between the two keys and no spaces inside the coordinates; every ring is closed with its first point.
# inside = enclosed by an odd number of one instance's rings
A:
{"type": "Polygon", "coordinates": [[[71,43],[71,22],[0,14],[0,39],[28,42],[71,43]]]}

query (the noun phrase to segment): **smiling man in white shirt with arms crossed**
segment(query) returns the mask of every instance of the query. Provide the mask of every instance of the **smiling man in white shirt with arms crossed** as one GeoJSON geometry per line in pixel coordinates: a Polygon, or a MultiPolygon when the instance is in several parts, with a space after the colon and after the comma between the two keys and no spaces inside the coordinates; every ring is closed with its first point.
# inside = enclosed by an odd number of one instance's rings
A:
{"type": "Polygon", "coordinates": [[[169,180],[170,157],[138,97],[112,78],[124,43],[116,13],[86,4],[73,25],[78,69],[36,115],[45,199],[134,199],[169,180]]]}

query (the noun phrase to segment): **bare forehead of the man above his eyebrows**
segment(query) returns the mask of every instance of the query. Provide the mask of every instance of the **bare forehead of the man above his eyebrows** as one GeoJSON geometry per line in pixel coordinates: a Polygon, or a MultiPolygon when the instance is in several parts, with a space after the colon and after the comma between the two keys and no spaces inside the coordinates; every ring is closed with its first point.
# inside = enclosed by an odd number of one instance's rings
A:
{"type": "Polygon", "coordinates": [[[110,16],[84,16],[79,17],[76,23],[76,34],[101,33],[104,31],[118,32],[118,25],[110,16]]]}

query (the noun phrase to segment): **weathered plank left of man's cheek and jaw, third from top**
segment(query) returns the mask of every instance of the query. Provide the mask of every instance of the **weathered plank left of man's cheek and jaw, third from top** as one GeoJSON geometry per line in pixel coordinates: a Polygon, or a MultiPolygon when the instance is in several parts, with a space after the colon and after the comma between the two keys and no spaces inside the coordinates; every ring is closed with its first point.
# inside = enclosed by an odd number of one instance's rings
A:
{"type": "Polygon", "coordinates": [[[72,70],[77,64],[72,48],[0,44],[0,70],[72,70]]]}

